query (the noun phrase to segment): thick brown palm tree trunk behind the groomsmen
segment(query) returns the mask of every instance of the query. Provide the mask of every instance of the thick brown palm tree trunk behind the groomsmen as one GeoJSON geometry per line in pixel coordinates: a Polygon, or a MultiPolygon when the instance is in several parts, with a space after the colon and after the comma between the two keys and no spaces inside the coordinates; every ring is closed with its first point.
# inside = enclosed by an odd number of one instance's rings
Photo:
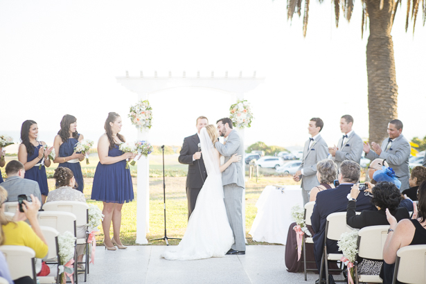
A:
{"type": "Polygon", "coordinates": [[[381,143],[387,137],[389,121],[398,117],[398,85],[391,37],[393,0],[366,0],[370,19],[367,43],[369,78],[369,140],[381,143]]]}

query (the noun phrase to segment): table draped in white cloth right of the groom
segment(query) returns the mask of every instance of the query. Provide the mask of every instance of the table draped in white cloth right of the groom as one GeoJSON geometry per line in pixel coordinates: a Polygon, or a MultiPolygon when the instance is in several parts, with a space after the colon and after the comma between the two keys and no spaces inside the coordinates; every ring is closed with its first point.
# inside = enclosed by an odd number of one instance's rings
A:
{"type": "Polygon", "coordinates": [[[300,186],[285,186],[283,190],[267,186],[260,195],[249,234],[256,242],[285,245],[288,227],[292,222],[291,208],[299,204],[303,208],[300,186]]]}

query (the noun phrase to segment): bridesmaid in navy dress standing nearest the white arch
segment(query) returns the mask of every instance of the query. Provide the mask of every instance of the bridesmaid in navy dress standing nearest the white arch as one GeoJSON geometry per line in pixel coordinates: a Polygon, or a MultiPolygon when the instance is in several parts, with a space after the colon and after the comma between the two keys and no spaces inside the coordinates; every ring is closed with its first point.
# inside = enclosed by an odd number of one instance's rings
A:
{"type": "Polygon", "coordinates": [[[124,202],[133,200],[133,185],[130,169],[126,169],[126,159],[133,159],[136,154],[124,153],[118,145],[125,142],[119,134],[123,125],[121,117],[115,112],[108,114],[105,121],[105,134],[98,141],[99,163],[96,167],[91,199],[103,202],[102,222],[105,249],[115,251],[126,249],[120,240],[121,208],[124,202]],[[109,228],[114,230],[114,237],[109,237],[109,228]]]}

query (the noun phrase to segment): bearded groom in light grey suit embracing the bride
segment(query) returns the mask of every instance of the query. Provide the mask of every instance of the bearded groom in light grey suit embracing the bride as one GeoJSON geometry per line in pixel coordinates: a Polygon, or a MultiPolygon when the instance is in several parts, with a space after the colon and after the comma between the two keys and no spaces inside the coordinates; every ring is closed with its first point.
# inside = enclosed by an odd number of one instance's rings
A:
{"type": "MultiPolygon", "coordinates": [[[[225,157],[225,163],[233,154],[244,156],[244,145],[241,143],[240,135],[232,129],[230,118],[222,118],[216,122],[219,134],[225,137],[225,145],[220,142],[215,143],[215,148],[225,157]]],[[[224,191],[224,202],[227,208],[229,224],[233,231],[233,243],[227,254],[245,254],[245,238],[242,229],[242,193],[245,188],[245,170],[242,163],[231,163],[222,172],[222,184],[224,191]]]]}

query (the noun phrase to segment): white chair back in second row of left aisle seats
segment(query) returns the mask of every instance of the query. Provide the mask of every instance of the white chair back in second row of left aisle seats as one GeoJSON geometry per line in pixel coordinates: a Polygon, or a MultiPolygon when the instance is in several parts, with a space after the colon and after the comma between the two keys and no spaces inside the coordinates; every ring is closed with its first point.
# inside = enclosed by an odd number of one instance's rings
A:
{"type": "Polygon", "coordinates": [[[61,211],[41,211],[37,214],[40,226],[51,227],[59,233],[69,231],[76,236],[76,215],[61,211]]]}

